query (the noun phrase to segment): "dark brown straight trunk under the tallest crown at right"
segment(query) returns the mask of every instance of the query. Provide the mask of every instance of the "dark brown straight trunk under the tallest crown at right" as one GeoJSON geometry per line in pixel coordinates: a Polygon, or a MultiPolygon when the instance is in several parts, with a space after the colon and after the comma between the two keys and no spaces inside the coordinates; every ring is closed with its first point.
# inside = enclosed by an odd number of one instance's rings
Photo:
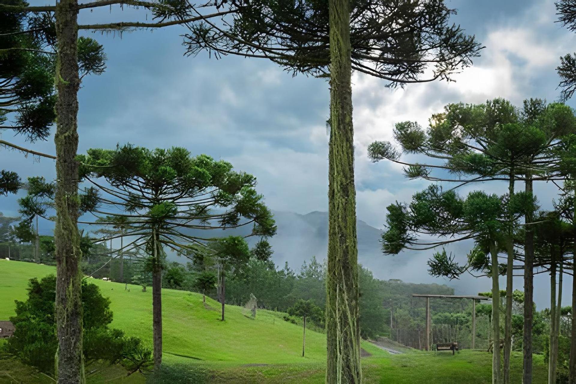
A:
{"type": "MultiPolygon", "coordinates": [[[[532,195],[532,174],[526,173],[526,193],[532,195]]],[[[532,223],[533,208],[530,206],[524,218],[526,224],[532,223]]],[[[532,384],[532,323],[534,318],[534,231],[532,225],[526,225],[524,234],[524,339],[522,340],[522,383],[532,384]]],[[[576,300],[576,298],[575,298],[576,300]]],[[[576,348],[576,345],[574,345],[576,348]]]]}

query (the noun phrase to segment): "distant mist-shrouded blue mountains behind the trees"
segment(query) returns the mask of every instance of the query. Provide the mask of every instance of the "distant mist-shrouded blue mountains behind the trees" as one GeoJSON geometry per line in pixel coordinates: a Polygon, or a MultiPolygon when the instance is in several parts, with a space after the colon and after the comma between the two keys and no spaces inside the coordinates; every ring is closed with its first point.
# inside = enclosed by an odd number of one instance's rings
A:
{"type": "MultiPolygon", "coordinates": [[[[313,211],[308,214],[297,214],[294,212],[274,211],[278,234],[270,239],[274,255],[274,262],[283,267],[288,262],[290,268],[298,270],[305,260],[316,256],[322,261],[326,258],[328,245],[328,212],[313,211]]],[[[41,234],[51,234],[53,225],[42,220],[40,224],[41,234]]],[[[88,229],[89,230],[89,229],[88,229]]],[[[211,230],[194,231],[202,237],[226,236],[232,234],[247,235],[251,231],[250,227],[242,227],[236,230],[211,230]]],[[[191,231],[192,232],[192,231],[191,231]]],[[[397,256],[386,256],[382,254],[380,244],[381,230],[374,228],[362,220],[357,222],[358,234],[358,261],[364,267],[369,268],[374,273],[374,277],[381,280],[401,279],[412,283],[439,283],[448,284],[456,290],[457,294],[478,294],[478,292],[490,290],[490,279],[464,275],[461,280],[448,280],[444,278],[434,278],[428,274],[427,260],[436,250],[407,250],[397,256]]],[[[249,242],[257,239],[251,238],[249,242]]],[[[119,246],[115,245],[115,246],[119,246]]],[[[446,247],[447,252],[456,255],[456,260],[463,262],[467,253],[472,248],[472,241],[457,242],[446,247]]],[[[441,250],[441,249],[437,249],[441,250]]],[[[170,260],[185,263],[188,261],[184,257],[169,254],[170,260]]],[[[501,284],[505,284],[502,279],[501,284]]],[[[515,277],[514,286],[522,287],[521,277],[515,277]]],[[[538,275],[535,278],[535,302],[539,308],[548,305],[550,296],[545,291],[548,287],[546,276],[538,275]],[[539,287],[543,289],[539,289],[539,287]]],[[[565,292],[564,300],[570,301],[569,292],[565,292]]]]}

